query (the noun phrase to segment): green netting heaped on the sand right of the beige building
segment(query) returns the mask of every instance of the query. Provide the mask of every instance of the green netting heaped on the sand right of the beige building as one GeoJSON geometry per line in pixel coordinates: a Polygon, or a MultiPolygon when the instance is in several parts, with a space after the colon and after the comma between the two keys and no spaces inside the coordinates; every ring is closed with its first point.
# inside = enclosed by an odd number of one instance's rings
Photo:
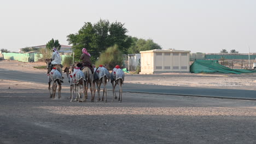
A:
{"type": "Polygon", "coordinates": [[[241,74],[241,73],[255,73],[252,70],[246,69],[230,69],[223,65],[220,65],[218,60],[202,60],[196,59],[193,64],[190,65],[191,73],[232,73],[232,74],[241,74]]]}

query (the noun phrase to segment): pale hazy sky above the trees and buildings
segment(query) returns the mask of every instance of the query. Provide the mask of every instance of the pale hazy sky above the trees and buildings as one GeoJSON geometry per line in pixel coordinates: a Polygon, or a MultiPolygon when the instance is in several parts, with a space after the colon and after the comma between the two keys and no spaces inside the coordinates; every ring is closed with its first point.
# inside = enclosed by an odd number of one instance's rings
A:
{"type": "Polygon", "coordinates": [[[256,1],[252,0],[22,0],[0,2],[0,49],[18,51],[67,35],[84,22],[125,23],[132,37],[163,49],[256,52],[256,1]]]}

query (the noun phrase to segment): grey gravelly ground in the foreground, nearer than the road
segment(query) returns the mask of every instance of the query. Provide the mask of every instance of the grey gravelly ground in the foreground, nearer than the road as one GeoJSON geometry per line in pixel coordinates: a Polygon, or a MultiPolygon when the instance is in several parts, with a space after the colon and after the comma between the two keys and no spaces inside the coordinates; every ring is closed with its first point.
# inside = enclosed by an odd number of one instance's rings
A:
{"type": "Polygon", "coordinates": [[[59,100],[46,87],[0,81],[1,144],[256,143],[255,101],[124,93],[123,103],[71,103],[67,87],[59,100]]]}

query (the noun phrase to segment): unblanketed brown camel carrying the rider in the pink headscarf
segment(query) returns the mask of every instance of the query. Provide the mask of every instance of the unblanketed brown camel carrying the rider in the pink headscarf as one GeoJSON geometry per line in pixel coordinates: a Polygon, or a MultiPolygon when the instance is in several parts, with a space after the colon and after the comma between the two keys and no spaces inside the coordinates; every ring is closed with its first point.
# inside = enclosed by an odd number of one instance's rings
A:
{"type": "Polygon", "coordinates": [[[85,101],[85,99],[88,98],[88,88],[89,88],[89,85],[90,85],[91,102],[94,102],[95,94],[93,92],[95,92],[95,85],[92,83],[94,75],[92,74],[91,69],[86,67],[86,66],[84,66],[82,68],[82,71],[83,71],[85,79],[86,79],[86,85],[85,85],[85,88],[84,88],[86,92],[85,92],[85,97],[84,97],[83,101],[85,101]]]}

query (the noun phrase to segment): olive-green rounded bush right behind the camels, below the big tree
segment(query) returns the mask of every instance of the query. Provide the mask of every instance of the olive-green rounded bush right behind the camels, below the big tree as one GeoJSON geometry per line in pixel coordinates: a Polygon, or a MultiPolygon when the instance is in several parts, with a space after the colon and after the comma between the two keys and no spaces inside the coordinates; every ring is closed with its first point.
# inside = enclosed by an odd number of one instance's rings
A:
{"type": "Polygon", "coordinates": [[[123,62],[123,53],[118,49],[117,45],[110,46],[101,53],[100,57],[95,63],[95,66],[98,65],[108,65],[109,69],[113,69],[115,65],[121,65],[123,62]]]}

